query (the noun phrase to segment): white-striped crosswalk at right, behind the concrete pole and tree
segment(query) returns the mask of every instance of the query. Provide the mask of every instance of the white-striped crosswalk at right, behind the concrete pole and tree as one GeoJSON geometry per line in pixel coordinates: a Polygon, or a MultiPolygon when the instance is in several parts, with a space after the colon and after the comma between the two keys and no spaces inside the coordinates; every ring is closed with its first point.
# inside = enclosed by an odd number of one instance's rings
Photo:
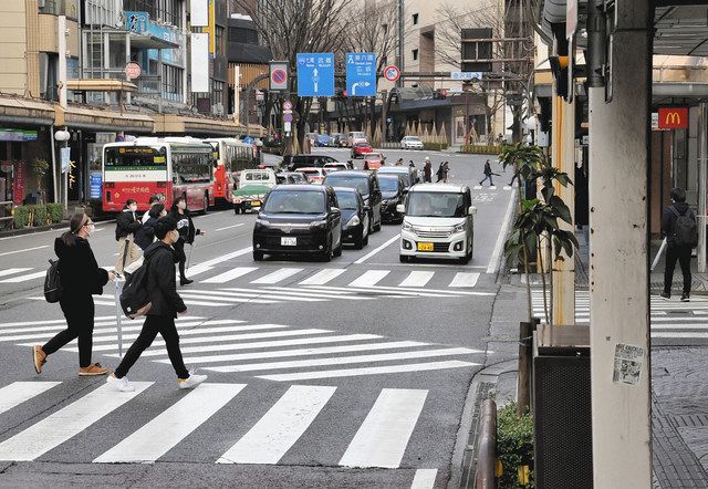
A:
{"type": "MultiPolygon", "coordinates": [[[[533,314],[544,318],[543,292],[533,290],[533,314]]],[[[548,303],[550,308],[550,303],[548,303]]],[[[658,295],[650,299],[652,339],[708,339],[708,298],[691,298],[690,302],[678,299],[664,300],[658,295]]],[[[590,293],[575,291],[575,323],[590,324],[590,293]]]]}

